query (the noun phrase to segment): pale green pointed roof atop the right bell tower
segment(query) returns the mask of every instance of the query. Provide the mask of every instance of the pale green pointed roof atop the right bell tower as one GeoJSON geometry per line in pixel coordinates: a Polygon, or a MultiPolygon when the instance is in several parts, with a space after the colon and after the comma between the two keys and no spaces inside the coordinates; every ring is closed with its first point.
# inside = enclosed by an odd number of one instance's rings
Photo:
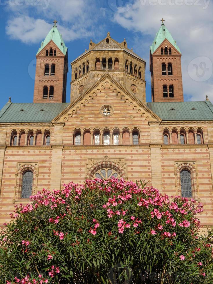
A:
{"type": "Polygon", "coordinates": [[[176,41],[174,41],[172,35],[165,27],[164,24],[161,25],[159,31],[156,33],[152,46],[150,46],[151,53],[153,54],[157,48],[161,45],[161,43],[167,39],[173,46],[181,53],[180,48],[176,45],[176,41]]]}

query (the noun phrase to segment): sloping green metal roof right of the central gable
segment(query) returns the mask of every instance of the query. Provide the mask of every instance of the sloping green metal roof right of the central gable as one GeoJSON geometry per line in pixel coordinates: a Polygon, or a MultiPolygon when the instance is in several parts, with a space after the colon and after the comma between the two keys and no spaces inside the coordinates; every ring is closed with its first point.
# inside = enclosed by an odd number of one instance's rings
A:
{"type": "Polygon", "coordinates": [[[162,120],[213,120],[210,101],[147,103],[162,120]]]}

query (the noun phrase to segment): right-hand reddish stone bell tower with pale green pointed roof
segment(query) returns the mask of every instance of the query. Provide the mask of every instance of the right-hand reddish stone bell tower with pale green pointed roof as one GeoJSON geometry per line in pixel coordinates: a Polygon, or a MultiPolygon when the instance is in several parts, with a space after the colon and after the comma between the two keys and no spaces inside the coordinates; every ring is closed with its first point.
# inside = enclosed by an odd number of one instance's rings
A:
{"type": "Polygon", "coordinates": [[[182,102],[181,51],[164,21],[150,47],[152,102],[182,102]]]}

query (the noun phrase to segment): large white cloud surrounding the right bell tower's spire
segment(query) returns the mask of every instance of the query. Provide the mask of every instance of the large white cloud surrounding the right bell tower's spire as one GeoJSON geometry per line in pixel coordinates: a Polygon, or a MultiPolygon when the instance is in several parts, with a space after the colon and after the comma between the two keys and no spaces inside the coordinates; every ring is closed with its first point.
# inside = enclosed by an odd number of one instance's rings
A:
{"type": "MultiPolygon", "coordinates": [[[[196,62],[198,66],[202,63],[199,57],[203,56],[209,58],[211,64],[213,63],[212,14],[213,5],[212,1],[209,0],[137,0],[127,12],[123,14],[115,13],[114,21],[128,30],[141,32],[143,34],[143,46],[147,46],[147,43],[149,45],[152,44],[150,36],[152,36],[153,40],[155,33],[160,27],[160,19],[163,17],[166,20],[166,27],[171,32],[174,40],[177,41],[182,52],[182,75],[185,99],[203,101],[205,96],[208,95],[213,101],[212,74],[210,74],[211,77],[207,81],[197,82],[195,67],[193,69],[194,74],[191,74],[194,80],[189,76],[187,71],[188,65],[195,58],[197,58],[196,62]],[[154,5],[151,5],[151,3],[154,3],[154,5]],[[160,5],[159,3],[166,3],[166,5],[160,5]],[[169,3],[182,3],[182,5],[171,6],[169,3]],[[193,5],[188,6],[187,3],[192,3],[193,5]],[[199,6],[196,6],[195,3],[199,6]]],[[[141,48],[141,41],[138,39],[135,41],[135,48],[137,51],[141,48]]],[[[147,60],[147,58],[145,59],[147,60]]],[[[146,72],[149,73],[149,64],[146,66],[146,72]]],[[[202,68],[204,67],[201,64],[199,74],[202,74],[202,68]]],[[[208,67],[211,69],[211,66],[206,65],[206,68],[208,67]]],[[[150,76],[147,77],[150,78],[150,76]]]]}

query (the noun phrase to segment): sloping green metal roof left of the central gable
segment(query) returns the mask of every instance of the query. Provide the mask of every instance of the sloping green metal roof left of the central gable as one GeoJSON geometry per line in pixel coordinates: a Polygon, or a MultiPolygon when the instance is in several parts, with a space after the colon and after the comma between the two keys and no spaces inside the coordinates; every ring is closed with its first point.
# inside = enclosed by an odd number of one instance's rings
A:
{"type": "Polygon", "coordinates": [[[70,103],[11,103],[0,110],[0,123],[50,122],[70,103]]]}

